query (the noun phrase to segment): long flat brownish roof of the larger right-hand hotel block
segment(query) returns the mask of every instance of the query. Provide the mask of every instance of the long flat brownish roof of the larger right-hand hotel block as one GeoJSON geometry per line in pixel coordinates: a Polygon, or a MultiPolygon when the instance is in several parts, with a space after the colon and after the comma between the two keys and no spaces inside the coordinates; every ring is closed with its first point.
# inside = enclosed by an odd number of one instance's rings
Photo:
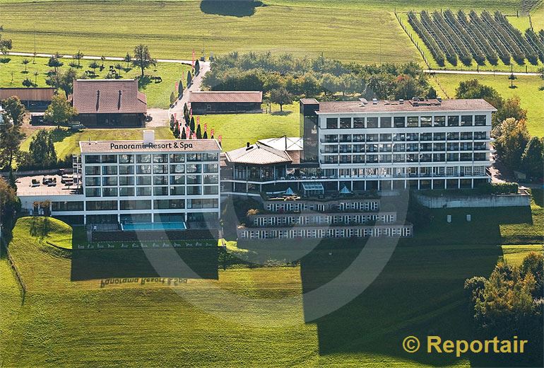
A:
{"type": "MultiPolygon", "coordinates": [[[[416,103],[418,101],[415,101],[416,103]]],[[[470,100],[442,100],[440,103],[427,105],[425,101],[419,101],[418,105],[405,100],[399,101],[378,100],[374,104],[368,101],[367,104],[361,101],[326,101],[319,103],[317,114],[338,114],[338,113],[420,113],[434,111],[497,111],[490,103],[483,98],[470,100]]]]}

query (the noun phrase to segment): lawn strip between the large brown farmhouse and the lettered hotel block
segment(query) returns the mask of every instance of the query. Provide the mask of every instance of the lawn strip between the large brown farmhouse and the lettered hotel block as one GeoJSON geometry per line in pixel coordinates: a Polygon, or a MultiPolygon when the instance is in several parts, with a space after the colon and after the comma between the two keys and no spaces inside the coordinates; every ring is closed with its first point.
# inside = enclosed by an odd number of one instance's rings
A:
{"type": "MultiPolygon", "coordinates": [[[[156,139],[174,139],[169,127],[146,128],[155,130],[156,139]]],[[[53,140],[57,157],[64,158],[67,154],[78,154],[79,141],[108,141],[108,140],[141,140],[143,128],[131,129],[84,129],[81,132],[71,132],[65,128],[53,130],[53,140]]],[[[35,130],[20,145],[20,149],[28,151],[32,137],[37,134],[35,130]]]]}

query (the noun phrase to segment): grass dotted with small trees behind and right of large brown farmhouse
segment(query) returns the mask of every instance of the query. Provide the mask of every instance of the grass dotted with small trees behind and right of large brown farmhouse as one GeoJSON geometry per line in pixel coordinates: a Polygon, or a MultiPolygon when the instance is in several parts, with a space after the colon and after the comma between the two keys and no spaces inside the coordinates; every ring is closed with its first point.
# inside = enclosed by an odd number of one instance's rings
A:
{"type": "MultiPolygon", "coordinates": [[[[62,50],[61,47],[59,47],[59,50],[62,50]]],[[[119,54],[117,56],[124,57],[124,54],[119,54]]],[[[37,84],[38,87],[47,87],[47,84],[45,84],[45,80],[47,79],[47,71],[52,69],[47,67],[48,60],[49,59],[45,57],[36,57],[36,62],[33,64],[32,57],[10,56],[6,57],[4,62],[1,62],[0,58],[0,87],[20,88],[23,87],[22,82],[27,78],[37,84]],[[27,73],[25,73],[25,66],[21,64],[23,59],[30,60],[30,63],[27,65],[27,73]],[[38,73],[37,76],[34,75],[36,71],[38,73]]],[[[62,66],[60,70],[63,71],[69,68],[69,64],[71,62],[75,62],[73,59],[61,59],[61,61],[64,63],[64,66],[62,66]]],[[[84,74],[85,70],[91,70],[88,67],[91,62],[91,60],[81,60],[81,68],[76,69],[78,74],[82,75],[84,74]]],[[[98,60],[97,63],[101,64],[100,60],[98,60]]],[[[117,63],[118,62],[105,61],[105,69],[103,71],[96,69],[97,78],[104,79],[110,70],[110,65],[115,66],[117,63]]],[[[126,67],[126,62],[119,62],[119,64],[126,67]]],[[[185,81],[187,80],[187,71],[189,69],[191,69],[189,65],[176,63],[158,63],[156,67],[146,69],[147,75],[160,76],[162,78],[162,82],[160,83],[150,82],[149,84],[141,86],[140,88],[140,91],[146,93],[148,108],[168,108],[170,105],[170,93],[175,90],[176,81],[181,79],[185,85],[185,81]]],[[[126,69],[126,71],[121,71],[121,74],[123,78],[131,79],[141,75],[141,71],[137,68],[131,67],[130,70],[126,69]]],[[[61,91],[61,93],[64,92],[61,91]]]]}

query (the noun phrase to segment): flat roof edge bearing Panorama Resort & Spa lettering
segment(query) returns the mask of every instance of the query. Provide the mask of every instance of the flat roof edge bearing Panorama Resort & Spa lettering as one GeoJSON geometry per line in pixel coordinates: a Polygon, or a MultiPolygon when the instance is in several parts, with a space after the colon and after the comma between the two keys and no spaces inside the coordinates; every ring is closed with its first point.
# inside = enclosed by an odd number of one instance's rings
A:
{"type": "Polygon", "coordinates": [[[79,148],[82,154],[221,151],[215,139],[155,139],[146,144],[143,141],[80,141],[79,148]]]}

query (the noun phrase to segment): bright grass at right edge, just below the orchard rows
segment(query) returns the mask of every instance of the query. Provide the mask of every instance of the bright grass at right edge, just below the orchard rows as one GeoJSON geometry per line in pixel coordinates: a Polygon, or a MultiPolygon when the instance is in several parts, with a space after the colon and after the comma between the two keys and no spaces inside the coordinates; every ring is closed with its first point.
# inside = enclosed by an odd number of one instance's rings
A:
{"type": "Polygon", "coordinates": [[[442,96],[454,98],[455,90],[459,82],[469,79],[478,79],[481,84],[492,86],[503,98],[519,96],[521,106],[527,110],[527,127],[529,133],[544,136],[544,91],[539,91],[544,86],[544,81],[538,76],[519,76],[514,81],[516,88],[509,88],[510,80],[507,76],[492,75],[459,75],[459,74],[435,74],[430,82],[442,96]]]}

